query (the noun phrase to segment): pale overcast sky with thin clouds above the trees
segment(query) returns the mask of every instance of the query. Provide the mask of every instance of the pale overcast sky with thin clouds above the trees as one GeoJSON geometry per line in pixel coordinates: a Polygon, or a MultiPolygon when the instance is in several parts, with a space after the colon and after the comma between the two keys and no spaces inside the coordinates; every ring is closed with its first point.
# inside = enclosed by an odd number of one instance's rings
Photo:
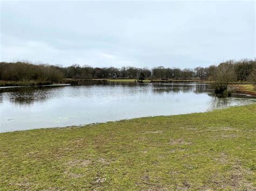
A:
{"type": "Polygon", "coordinates": [[[255,1],[0,3],[0,61],[194,68],[256,57],[255,1]]]}

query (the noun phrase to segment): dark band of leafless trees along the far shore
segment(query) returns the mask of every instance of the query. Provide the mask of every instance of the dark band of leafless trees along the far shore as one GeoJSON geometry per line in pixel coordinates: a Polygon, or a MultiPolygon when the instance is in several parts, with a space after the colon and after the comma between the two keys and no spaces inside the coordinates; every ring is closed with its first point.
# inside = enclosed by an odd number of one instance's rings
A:
{"type": "Polygon", "coordinates": [[[228,60],[219,65],[209,67],[165,68],[163,66],[149,68],[136,67],[91,67],[72,65],[33,64],[29,62],[0,62],[0,80],[3,81],[50,81],[60,79],[196,79],[216,81],[221,77],[228,80],[246,81],[255,78],[256,59],[228,60]],[[225,66],[225,67],[224,67],[225,66]],[[227,67],[228,66],[228,67],[227,67]],[[228,75],[226,74],[228,69],[228,75]]]}

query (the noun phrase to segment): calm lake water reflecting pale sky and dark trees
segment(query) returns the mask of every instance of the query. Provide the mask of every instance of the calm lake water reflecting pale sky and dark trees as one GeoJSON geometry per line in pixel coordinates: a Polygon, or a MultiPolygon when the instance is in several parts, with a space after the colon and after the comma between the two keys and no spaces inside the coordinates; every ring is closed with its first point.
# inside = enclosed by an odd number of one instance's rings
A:
{"type": "Polygon", "coordinates": [[[255,102],[255,97],[241,95],[218,98],[208,84],[197,83],[1,88],[0,132],[188,114],[255,102]]]}

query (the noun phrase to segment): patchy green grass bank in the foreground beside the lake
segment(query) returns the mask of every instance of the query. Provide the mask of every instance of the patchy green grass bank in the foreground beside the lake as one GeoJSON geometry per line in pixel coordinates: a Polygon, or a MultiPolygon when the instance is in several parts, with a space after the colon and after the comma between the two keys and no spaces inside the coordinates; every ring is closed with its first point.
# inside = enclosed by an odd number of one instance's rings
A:
{"type": "Polygon", "coordinates": [[[256,104],[0,133],[0,189],[255,189],[256,104]]]}

